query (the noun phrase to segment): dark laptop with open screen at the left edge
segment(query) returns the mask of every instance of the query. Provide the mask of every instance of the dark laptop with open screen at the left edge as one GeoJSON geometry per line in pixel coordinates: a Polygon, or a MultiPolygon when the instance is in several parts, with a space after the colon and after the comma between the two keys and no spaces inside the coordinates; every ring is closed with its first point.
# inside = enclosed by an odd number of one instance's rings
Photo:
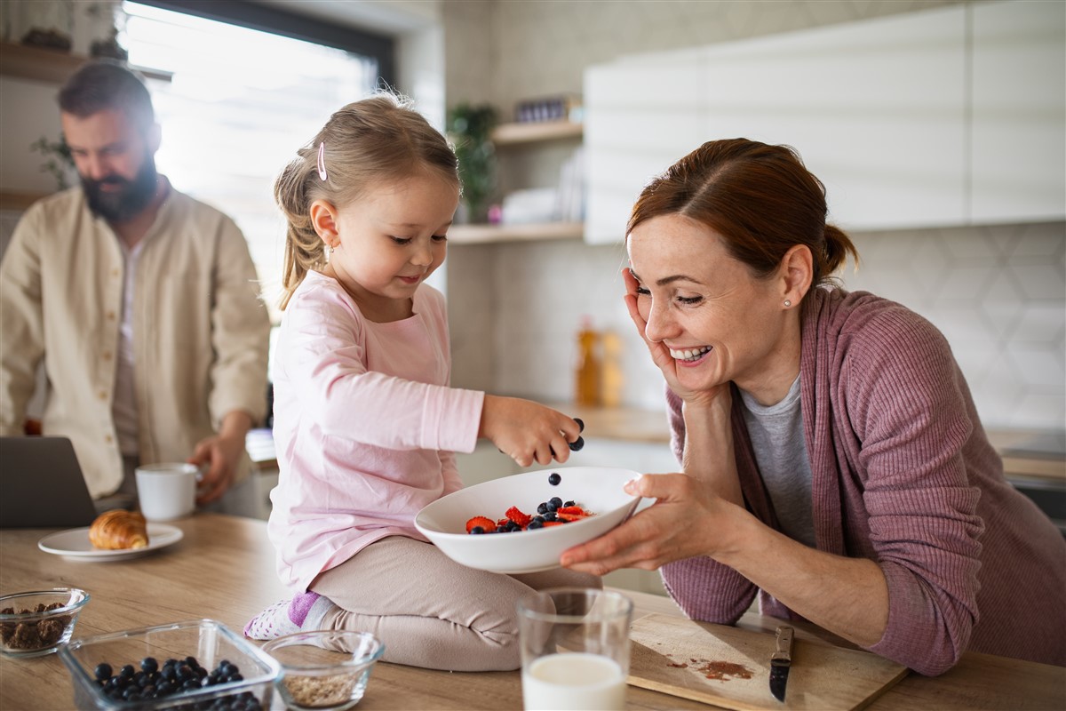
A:
{"type": "Polygon", "coordinates": [[[0,437],[0,528],[80,528],[95,518],[68,438],[0,437]]]}

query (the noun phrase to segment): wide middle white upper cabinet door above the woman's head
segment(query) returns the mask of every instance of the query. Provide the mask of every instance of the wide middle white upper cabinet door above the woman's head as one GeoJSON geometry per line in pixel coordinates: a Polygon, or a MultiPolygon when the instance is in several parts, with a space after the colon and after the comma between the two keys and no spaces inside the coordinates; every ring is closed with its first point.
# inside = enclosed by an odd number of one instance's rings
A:
{"type": "Polygon", "coordinates": [[[962,18],[955,6],[713,47],[705,140],[792,146],[844,229],[958,224],[962,18]]]}

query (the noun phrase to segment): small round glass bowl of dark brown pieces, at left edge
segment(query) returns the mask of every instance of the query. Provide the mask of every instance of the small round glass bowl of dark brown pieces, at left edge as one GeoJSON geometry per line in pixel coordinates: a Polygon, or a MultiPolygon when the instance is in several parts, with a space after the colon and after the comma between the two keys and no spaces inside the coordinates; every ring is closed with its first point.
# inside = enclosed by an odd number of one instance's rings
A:
{"type": "Polygon", "coordinates": [[[9,657],[50,655],[70,641],[88,593],[77,587],[0,597],[0,651],[9,657]]]}

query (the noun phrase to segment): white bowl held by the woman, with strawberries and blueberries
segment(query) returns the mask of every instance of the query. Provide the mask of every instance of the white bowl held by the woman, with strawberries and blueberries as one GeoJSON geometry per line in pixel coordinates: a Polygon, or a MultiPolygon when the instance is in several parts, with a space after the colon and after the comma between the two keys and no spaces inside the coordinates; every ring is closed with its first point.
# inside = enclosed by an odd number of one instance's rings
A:
{"type": "Polygon", "coordinates": [[[640,474],[611,467],[556,467],[495,479],[437,499],[415,517],[415,527],[456,563],[480,570],[519,573],[558,568],[567,548],[601,536],[626,520],[640,502],[623,486],[640,474]],[[548,476],[558,472],[558,486],[548,476]],[[466,522],[474,516],[498,520],[517,506],[536,515],[552,497],[574,501],[596,515],[564,526],[513,533],[471,535],[466,522]]]}

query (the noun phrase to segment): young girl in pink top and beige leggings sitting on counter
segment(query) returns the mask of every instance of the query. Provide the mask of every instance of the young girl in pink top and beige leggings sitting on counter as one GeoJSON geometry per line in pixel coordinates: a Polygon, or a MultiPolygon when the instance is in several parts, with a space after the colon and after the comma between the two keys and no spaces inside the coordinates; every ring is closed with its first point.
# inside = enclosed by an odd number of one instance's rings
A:
{"type": "Polygon", "coordinates": [[[289,229],[268,530],[294,597],[244,633],[362,630],[391,662],[517,668],[516,600],[600,579],[474,570],[415,529],[419,510],[462,488],[453,452],[479,437],[527,467],[565,462],[580,434],[536,403],[449,387],[445,301],[423,281],[445,260],[458,206],[455,153],[402,99],[379,95],[335,113],[275,195],[289,229]]]}

